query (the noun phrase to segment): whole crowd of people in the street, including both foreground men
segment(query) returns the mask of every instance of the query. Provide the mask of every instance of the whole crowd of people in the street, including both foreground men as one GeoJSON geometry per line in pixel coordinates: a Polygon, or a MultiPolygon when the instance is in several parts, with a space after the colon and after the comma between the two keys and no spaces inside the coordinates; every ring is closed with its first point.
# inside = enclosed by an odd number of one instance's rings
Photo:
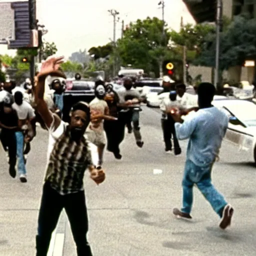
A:
{"type": "MultiPolygon", "coordinates": [[[[8,155],[9,174],[27,182],[26,155],[30,141],[36,136],[36,122],[49,131],[47,164],[41,197],[36,255],[46,256],[51,233],[64,208],[76,243],[77,255],[92,255],[87,242],[88,219],[83,189],[86,169],[90,177],[100,184],[105,179],[102,169],[106,149],[121,159],[119,145],[124,139],[125,127],[133,131],[135,144],[143,146],[139,126],[140,103],[144,98],[133,87],[130,77],[123,78],[123,89],[115,91],[111,84],[95,81],[95,98],[89,103],[79,101],[69,112],[70,122],[61,120],[65,74],[59,65],[62,57],[49,57],[34,77],[34,86],[27,80],[15,86],[6,81],[0,91],[0,140],[8,155]],[[46,84],[46,86],[45,86],[46,84]],[[46,89],[54,90],[54,97],[46,89]],[[97,147],[97,157],[91,153],[97,147]]],[[[218,157],[228,118],[211,105],[215,88],[201,83],[197,95],[186,93],[182,83],[173,84],[163,77],[161,100],[161,127],[165,151],[181,153],[178,140],[189,139],[184,176],[182,180],[182,208],[174,208],[178,217],[191,218],[193,185],[196,184],[214,211],[220,217],[219,226],[230,225],[233,208],[211,183],[211,168],[218,157]],[[189,112],[185,121],[181,118],[189,112]],[[173,146],[172,146],[172,140],[173,146]]]]}

